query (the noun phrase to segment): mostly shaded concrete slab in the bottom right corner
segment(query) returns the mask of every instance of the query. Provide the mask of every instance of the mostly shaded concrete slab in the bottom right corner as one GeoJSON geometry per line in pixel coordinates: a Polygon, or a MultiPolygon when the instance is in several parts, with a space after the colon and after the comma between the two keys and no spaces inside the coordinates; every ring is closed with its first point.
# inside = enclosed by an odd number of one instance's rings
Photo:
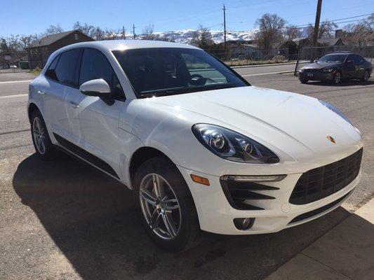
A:
{"type": "Polygon", "coordinates": [[[374,279],[374,198],[265,280],[374,279]]]}

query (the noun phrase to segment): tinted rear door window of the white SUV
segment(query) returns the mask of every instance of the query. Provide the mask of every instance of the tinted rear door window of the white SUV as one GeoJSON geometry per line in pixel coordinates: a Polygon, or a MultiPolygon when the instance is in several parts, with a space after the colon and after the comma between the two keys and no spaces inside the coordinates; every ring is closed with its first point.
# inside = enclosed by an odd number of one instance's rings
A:
{"type": "Polygon", "coordinates": [[[55,69],[56,78],[66,85],[76,86],[76,67],[78,66],[80,50],[69,50],[60,55],[55,69]]]}

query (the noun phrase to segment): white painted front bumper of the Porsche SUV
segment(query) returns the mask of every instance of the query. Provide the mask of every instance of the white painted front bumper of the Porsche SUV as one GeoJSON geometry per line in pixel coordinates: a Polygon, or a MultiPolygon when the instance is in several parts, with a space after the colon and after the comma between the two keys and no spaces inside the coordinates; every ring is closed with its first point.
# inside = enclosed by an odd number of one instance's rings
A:
{"type": "MultiPolygon", "coordinates": [[[[296,205],[290,204],[288,200],[302,173],[287,174],[286,178],[281,181],[266,182],[267,186],[277,189],[256,191],[256,193],[274,197],[273,200],[258,200],[251,203],[263,210],[239,210],[234,209],[229,204],[222,190],[219,176],[203,174],[183,167],[178,168],[187,181],[194,198],[201,230],[223,235],[279,232],[285,228],[312,221],[339,207],[351,195],[361,177],[361,174],[359,174],[345,188],[328,197],[315,202],[296,205]],[[203,186],[194,183],[191,174],[207,178],[211,185],[203,186]],[[234,218],[255,218],[255,222],[252,228],[248,230],[238,230],[234,225],[234,218]]],[[[286,169],[283,174],[286,174],[286,169]]]]}

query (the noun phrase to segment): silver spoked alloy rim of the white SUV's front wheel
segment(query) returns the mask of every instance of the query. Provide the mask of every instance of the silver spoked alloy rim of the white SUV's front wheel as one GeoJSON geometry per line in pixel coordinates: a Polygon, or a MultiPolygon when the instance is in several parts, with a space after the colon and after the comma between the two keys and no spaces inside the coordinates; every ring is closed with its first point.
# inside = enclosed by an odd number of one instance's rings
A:
{"type": "Polygon", "coordinates": [[[149,228],[161,239],[178,236],[182,214],[173,188],[159,174],[147,174],[140,183],[140,206],[149,228]]]}

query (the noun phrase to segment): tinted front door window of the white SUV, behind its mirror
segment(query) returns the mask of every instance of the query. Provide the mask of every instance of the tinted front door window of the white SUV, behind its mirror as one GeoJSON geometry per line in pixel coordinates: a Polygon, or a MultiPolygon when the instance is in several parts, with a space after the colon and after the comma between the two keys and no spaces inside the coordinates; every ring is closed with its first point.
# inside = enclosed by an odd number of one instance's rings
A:
{"type": "Polygon", "coordinates": [[[102,54],[99,50],[86,49],[84,50],[82,62],[81,62],[81,73],[79,75],[79,86],[88,80],[94,80],[102,78],[105,80],[112,96],[116,99],[123,99],[124,94],[119,83],[116,74],[110,65],[107,57],[102,54]]]}

